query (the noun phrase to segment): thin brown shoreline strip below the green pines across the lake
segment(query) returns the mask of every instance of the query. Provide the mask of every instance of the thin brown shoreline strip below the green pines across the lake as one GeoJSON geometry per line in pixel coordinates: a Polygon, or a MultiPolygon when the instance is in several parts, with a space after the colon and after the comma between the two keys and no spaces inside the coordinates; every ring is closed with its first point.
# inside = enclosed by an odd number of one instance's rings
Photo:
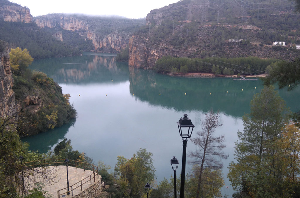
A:
{"type": "Polygon", "coordinates": [[[166,73],[169,76],[178,76],[178,77],[187,77],[187,78],[240,78],[241,76],[244,76],[246,78],[260,78],[265,77],[266,74],[260,74],[260,75],[224,75],[219,74],[215,75],[213,73],[166,73]]]}

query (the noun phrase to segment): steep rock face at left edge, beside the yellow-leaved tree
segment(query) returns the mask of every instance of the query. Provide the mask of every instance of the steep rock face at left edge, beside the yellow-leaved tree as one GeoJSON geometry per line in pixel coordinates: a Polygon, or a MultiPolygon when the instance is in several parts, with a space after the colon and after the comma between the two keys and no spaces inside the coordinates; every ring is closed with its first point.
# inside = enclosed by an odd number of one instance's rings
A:
{"type": "Polygon", "coordinates": [[[12,90],[13,76],[10,69],[7,43],[0,40],[0,116],[12,113],[15,106],[15,94],[12,90]]]}

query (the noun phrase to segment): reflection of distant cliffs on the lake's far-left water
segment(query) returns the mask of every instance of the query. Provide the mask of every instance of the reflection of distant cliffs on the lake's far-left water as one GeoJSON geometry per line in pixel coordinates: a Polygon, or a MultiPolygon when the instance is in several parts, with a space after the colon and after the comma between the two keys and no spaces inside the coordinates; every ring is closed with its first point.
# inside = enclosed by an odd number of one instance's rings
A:
{"type": "Polygon", "coordinates": [[[127,64],[116,63],[115,56],[86,54],[35,60],[30,69],[46,73],[58,84],[104,83],[112,79],[118,83],[128,80],[127,64]]]}

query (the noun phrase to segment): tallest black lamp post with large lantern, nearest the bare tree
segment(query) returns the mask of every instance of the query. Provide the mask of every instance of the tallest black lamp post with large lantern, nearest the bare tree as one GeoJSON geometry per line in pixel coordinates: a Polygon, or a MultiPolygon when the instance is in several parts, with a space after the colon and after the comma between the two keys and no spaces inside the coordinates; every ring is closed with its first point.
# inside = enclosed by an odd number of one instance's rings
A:
{"type": "Polygon", "coordinates": [[[183,115],[183,118],[177,122],[179,134],[182,138],[182,167],[181,167],[181,181],[180,181],[180,198],[184,198],[184,180],[185,180],[185,159],[187,153],[187,140],[192,135],[194,126],[192,121],[187,117],[187,114],[183,115]],[[191,130],[190,130],[191,129],[191,130]]]}

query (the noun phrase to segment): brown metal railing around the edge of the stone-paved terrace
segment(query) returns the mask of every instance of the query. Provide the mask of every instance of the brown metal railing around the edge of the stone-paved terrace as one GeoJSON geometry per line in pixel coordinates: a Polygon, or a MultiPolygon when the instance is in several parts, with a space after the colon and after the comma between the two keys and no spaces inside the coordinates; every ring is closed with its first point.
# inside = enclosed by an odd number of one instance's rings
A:
{"type": "MultiPolygon", "coordinates": [[[[64,160],[65,159],[43,159],[43,160],[37,160],[37,161],[24,162],[23,165],[24,165],[25,169],[33,169],[33,168],[37,168],[37,167],[46,167],[46,166],[49,166],[49,165],[55,165],[55,166],[66,165],[66,162],[64,162],[64,160]]],[[[71,192],[71,194],[73,196],[73,191],[76,188],[79,188],[79,187],[82,191],[82,185],[83,184],[85,184],[87,182],[90,182],[90,184],[92,184],[92,179],[93,178],[94,178],[94,182],[95,182],[96,174],[97,174],[97,178],[99,178],[98,167],[93,165],[93,164],[88,164],[88,163],[85,163],[85,162],[79,162],[79,161],[75,161],[75,160],[69,160],[68,161],[68,166],[73,166],[76,169],[78,167],[78,168],[83,169],[84,171],[85,170],[91,170],[91,171],[93,171],[93,173],[91,175],[85,177],[81,181],[79,181],[80,184],[79,184],[79,182],[76,182],[75,184],[69,186],[69,188],[71,188],[70,191],[67,191],[65,193],[60,194],[60,191],[65,190],[68,187],[58,190],[57,191],[57,197],[58,198],[59,198],[60,195],[67,194],[68,192],[71,192]]]]}

